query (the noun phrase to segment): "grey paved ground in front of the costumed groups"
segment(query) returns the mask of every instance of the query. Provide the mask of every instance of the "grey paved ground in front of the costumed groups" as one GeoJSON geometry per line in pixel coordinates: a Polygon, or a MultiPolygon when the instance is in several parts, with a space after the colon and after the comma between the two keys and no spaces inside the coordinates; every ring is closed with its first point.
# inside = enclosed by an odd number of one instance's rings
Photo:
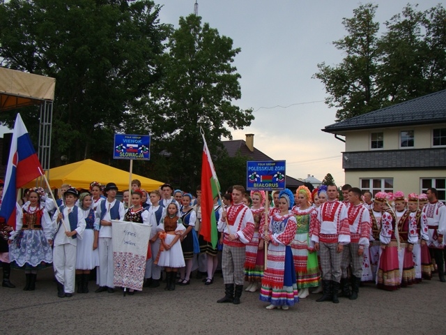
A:
{"type": "MultiPolygon", "coordinates": [[[[242,303],[217,304],[223,279],[213,285],[192,279],[174,292],[163,286],[123,297],[116,290],[60,299],[52,269],[40,271],[33,292],[13,271],[15,289],[0,287],[1,334],[444,334],[446,283],[438,277],[396,292],[367,284],[355,301],[316,303],[301,299],[289,311],[267,311],[259,293],[243,292],[242,303]]],[[[90,289],[95,290],[93,281],[90,289]]],[[[91,291],[93,291],[91,290],[91,291]]]]}

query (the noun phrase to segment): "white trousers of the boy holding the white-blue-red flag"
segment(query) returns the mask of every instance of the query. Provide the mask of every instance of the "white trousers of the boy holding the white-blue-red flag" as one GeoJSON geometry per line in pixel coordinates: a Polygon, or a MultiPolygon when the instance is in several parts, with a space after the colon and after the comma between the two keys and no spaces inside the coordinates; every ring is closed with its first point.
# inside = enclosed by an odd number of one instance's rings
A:
{"type": "Polygon", "coordinates": [[[66,293],[75,292],[76,246],[61,244],[53,249],[54,275],[66,293]]]}

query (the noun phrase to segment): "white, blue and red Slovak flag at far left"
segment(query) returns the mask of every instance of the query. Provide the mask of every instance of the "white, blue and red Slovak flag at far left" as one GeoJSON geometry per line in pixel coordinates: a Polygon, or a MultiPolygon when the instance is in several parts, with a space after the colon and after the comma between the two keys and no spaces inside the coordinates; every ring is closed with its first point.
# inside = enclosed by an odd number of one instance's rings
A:
{"type": "Polygon", "coordinates": [[[14,229],[17,188],[40,177],[40,171],[42,170],[42,165],[40,165],[39,158],[31,143],[28,131],[26,131],[22,117],[17,113],[0,209],[0,216],[5,218],[6,223],[14,229]]]}

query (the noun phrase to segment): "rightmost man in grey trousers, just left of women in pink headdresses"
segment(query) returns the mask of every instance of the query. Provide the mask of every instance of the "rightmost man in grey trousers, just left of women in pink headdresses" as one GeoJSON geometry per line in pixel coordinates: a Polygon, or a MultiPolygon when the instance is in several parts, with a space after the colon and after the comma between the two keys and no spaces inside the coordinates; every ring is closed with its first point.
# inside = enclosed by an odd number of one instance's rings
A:
{"type": "Polygon", "coordinates": [[[357,299],[362,278],[362,260],[364,260],[364,248],[369,247],[370,214],[367,208],[361,204],[361,190],[351,188],[348,193],[348,224],[350,225],[350,244],[344,246],[342,253],[342,278],[341,291],[344,297],[351,300],[357,299]],[[352,265],[352,292],[348,287],[348,266],[352,265]]]}

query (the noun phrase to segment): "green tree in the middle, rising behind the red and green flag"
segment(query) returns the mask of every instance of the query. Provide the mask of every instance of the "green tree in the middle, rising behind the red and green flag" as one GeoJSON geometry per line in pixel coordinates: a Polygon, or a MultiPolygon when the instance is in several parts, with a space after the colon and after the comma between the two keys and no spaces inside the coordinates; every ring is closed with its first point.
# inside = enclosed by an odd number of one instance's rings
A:
{"type": "Polygon", "coordinates": [[[180,17],[167,50],[161,57],[162,80],[151,90],[153,101],[147,101],[143,117],[148,122],[143,126],[154,137],[154,151],[170,155],[164,165],[170,181],[188,190],[201,178],[200,128],[218,159],[221,137],[231,138],[229,128],[249,126],[254,116],[251,109],[233,105],[241,97],[240,75],[232,65],[240,49],[233,49],[231,38],[189,15],[180,17]]]}

